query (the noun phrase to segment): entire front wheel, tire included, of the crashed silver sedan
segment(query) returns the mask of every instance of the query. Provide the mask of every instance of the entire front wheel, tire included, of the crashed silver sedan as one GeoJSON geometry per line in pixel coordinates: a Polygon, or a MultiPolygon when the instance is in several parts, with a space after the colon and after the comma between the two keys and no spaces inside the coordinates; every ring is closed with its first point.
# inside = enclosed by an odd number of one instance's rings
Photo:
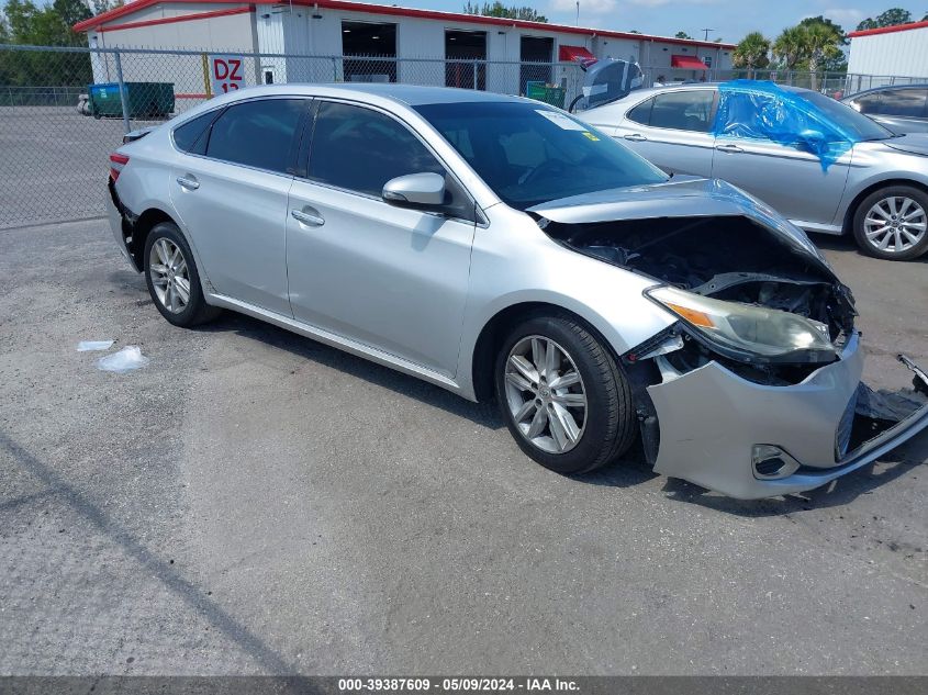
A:
{"type": "Polygon", "coordinates": [[[559,473],[586,473],[635,437],[628,381],[599,338],[568,316],[535,316],[503,341],[500,411],[522,450],[559,473]]]}

